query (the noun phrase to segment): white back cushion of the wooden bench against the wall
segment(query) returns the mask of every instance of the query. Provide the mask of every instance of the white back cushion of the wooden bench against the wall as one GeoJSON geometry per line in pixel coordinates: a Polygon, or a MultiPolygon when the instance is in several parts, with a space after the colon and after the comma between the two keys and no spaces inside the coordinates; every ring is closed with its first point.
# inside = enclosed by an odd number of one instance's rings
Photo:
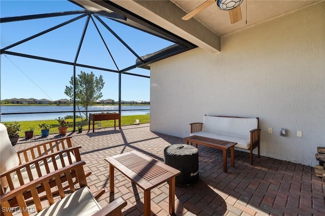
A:
{"type": "Polygon", "coordinates": [[[249,138],[249,131],[258,128],[258,118],[204,116],[202,131],[249,138]]]}

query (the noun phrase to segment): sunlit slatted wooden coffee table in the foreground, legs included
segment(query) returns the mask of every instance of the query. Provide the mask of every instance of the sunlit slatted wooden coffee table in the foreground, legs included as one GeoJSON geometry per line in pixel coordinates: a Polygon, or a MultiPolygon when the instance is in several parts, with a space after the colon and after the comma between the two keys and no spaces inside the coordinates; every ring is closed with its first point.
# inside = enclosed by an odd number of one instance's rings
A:
{"type": "Polygon", "coordinates": [[[144,190],[144,215],[149,216],[150,190],[168,181],[169,213],[175,212],[175,176],[180,174],[179,170],[137,151],[109,156],[105,160],[110,164],[111,193],[114,193],[114,168],[116,168],[144,190]]]}

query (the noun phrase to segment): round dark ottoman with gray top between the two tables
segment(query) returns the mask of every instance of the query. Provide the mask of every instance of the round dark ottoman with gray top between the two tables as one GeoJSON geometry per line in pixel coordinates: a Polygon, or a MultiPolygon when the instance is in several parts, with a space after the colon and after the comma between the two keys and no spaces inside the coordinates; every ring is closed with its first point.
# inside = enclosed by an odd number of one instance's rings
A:
{"type": "Polygon", "coordinates": [[[175,144],[164,149],[165,164],[181,171],[176,185],[186,186],[199,179],[199,150],[186,144],[175,144]]]}

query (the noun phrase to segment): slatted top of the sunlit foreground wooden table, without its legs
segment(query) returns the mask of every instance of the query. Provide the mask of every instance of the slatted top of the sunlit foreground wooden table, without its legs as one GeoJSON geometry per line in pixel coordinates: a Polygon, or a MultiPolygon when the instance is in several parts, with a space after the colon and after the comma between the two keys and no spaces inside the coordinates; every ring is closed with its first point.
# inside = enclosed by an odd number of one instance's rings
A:
{"type": "Polygon", "coordinates": [[[180,171],[137,151],[105,159],[140,188],[150,190],[180,174],[180,171]]]}

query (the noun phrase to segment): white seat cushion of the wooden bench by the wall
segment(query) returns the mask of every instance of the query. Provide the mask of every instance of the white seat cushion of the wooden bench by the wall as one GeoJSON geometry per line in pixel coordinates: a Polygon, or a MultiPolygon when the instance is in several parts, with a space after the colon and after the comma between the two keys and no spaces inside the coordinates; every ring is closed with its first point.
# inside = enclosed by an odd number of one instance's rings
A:
{"type": "Polygon", "coordinates": [[[204,136],[213,139],[221,139],[225,141],[237,142],[235,147],[241,149],[249,149],[249,145],[250,145],[250,138],[247,139],[246,137],[223,135],[223,134],[217,134],[217,133],[211,133],[205,131],[191,133],[190,135],[204,136]]]}

